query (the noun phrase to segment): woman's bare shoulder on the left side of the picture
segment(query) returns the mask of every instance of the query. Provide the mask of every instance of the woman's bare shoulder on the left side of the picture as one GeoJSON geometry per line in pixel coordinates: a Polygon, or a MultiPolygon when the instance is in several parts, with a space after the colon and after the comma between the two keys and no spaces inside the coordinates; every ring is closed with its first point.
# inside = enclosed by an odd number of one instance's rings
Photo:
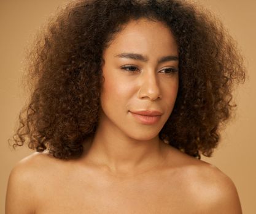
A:
{"type": "Polygon", "coordinates": [[[53,163],[47,153],[34,152],[18,161],[9,175],[6,192],[6,213],[34,213],[37,194],[42,186],[49,163],[53,163]]]}

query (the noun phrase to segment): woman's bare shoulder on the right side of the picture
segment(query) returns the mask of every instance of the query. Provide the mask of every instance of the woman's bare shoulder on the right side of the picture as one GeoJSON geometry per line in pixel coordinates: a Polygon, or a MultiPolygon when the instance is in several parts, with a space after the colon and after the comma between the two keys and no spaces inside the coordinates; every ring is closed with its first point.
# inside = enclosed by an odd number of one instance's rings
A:
{"type": "Polygon", "coordinates": [[[241,214],[241,204],[233,181],[216,166],[177,152],[188,196],[202,213],[241,214]]]}

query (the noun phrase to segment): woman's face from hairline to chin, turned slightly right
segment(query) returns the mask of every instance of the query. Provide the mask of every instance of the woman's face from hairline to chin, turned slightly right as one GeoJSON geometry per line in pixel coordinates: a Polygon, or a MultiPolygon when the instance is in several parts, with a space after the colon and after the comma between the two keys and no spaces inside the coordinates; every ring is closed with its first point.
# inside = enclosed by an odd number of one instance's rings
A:
{"type": "Polygon", "coordinates": [[[179,86],[178,48],[171,31],[161,22],[130,21],[103,58],[100,125],[141,141],[157,137],[173,110],[179,86]],[[142,110],[162,115],[147,124],[131,113],[142,110]]]}

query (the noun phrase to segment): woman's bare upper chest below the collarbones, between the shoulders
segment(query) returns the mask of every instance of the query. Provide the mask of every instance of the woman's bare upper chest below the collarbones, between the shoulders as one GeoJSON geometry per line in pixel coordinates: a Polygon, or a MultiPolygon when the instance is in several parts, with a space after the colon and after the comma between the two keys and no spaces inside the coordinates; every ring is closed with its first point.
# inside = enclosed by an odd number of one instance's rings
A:
{"type": "Polygon", "coordinates": [[[36,214],[198,213],[194,196],[179,179],[91,179],[64,179],[45,186],[36,214]]]}

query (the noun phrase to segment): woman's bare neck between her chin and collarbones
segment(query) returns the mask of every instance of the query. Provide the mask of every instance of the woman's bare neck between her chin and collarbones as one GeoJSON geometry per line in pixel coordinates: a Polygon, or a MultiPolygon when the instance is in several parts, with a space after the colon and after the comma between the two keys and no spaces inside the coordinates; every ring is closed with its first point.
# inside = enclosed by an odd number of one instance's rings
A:
{"type": "Polygon", "coordinates": [[[86,158],[112,174],[138,174],[164,163],[164,146],[158,136],[147,141],[130,138],[117,130],[98,127],[86,158]]]}

